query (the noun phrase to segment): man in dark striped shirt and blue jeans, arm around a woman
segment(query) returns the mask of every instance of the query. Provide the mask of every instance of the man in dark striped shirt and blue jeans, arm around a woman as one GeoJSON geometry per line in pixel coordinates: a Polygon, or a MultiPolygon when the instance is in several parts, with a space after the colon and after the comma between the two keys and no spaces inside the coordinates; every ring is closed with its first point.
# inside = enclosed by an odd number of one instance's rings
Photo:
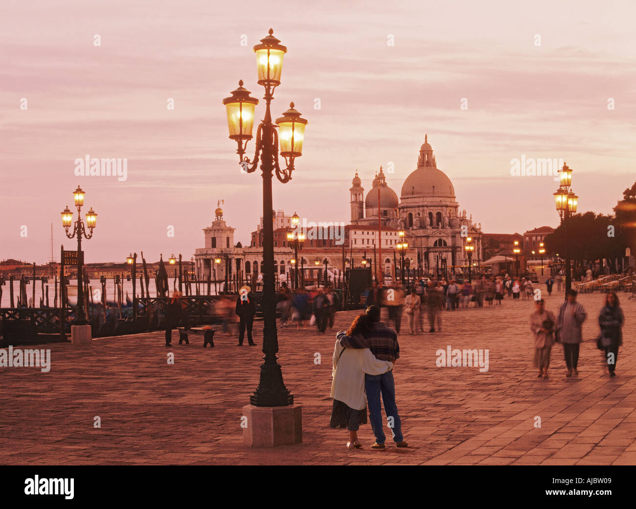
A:
{"type": "MultiPolygon", "coordinates": [[[[340,331],[336,335],[338,340],[340,340],[340,344],[345,348],[368,348],[376,358],[395,363],[399,359],[399,344],[397,344],[395,331],[380,322],[380,308],[376,305],[367,308],[366,316],[370,322],[368,332],[364,335],[350,337],[340,331]]],[[[393,441],[397,447],[407,447],[408,444],[404,442],[402,435],[399,414],[397,414],[396,389],[392,370],[382,373],[382,375],[366,374],[364,376],[364,388],[366,389],[366,399],[369,405],[369,419],[373,435],[375,435],[375,443],[371,445],[371,449],[386,449],[384,445],[386,436],[384,435],[384,429],[382,429],[380,395],[382,395],[384,412],[387,414],[387,423],[391,428],[393,441]]]]}

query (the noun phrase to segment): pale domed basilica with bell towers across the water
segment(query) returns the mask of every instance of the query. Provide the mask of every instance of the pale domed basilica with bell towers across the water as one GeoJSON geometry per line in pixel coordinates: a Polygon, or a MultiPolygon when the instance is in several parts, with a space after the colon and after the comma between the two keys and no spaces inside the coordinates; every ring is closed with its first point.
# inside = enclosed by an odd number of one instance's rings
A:
{"type": "Polygon", "coordinates": [[[473,223],[472,214],[467,218],[466,210],[459,212],[453,183],[438,169],[428,135],[420,147],[417,169],[404,181],[399,200],[382,167],[364,201],[357,172],[349,191],[352,225],[377,227],[379,220],[383,227],[404,230],[409,251],[417,249],[422,267],[434,268],[439,258],[448,267],[467,267],[466,237],[473,238],[474,254],[481,253],[481,224],[473,223]]]}

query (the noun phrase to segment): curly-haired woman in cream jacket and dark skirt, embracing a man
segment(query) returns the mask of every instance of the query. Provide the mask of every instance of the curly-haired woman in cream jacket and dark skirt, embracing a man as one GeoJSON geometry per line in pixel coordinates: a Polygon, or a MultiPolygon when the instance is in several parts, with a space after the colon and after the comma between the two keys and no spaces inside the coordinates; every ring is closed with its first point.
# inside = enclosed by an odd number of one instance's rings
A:
{"type": "MultiPolygon", "coordinates": [[[[356,316],[347,330],[348,336],[364,335],[370,329],[370,319],[366,313],[356,316]]],[[[347,449],[362,447],[357,437],[360,424],[366,424],[366,395],[364,394],[364,375],[381,375],[393,368],[390,361],[377,359],[368,348],[344,348],[336,340],[333,349],[333,382],[331,398],[333,408],[329,426],[349,429],[347,449]]]]}

